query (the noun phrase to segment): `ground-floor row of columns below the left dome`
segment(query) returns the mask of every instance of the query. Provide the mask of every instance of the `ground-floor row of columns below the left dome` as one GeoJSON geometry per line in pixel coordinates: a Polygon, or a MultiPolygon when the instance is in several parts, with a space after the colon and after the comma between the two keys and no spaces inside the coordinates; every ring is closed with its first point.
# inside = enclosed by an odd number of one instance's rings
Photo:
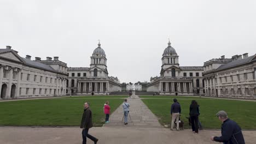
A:
{"type": "Polygon", "coordinates": [[[78,92],[107,92],[108,82],[78,82],[78,92]]]}

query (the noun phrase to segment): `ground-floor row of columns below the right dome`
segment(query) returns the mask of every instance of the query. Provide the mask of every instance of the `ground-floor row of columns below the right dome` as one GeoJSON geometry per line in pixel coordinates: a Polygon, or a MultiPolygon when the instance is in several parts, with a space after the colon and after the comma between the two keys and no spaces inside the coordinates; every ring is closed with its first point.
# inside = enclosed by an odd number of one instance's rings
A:
{"type": "Polygon", "coordinates": [[[159,90],[161,92],[193,92],[193,84],[192,82],[161,81],[159,90]]]}

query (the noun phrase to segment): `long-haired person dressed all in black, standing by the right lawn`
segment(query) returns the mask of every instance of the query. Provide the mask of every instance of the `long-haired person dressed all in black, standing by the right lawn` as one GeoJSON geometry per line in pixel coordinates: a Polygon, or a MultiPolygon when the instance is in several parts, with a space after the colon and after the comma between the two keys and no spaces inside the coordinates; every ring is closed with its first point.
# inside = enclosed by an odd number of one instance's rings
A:
{"type": "Polygon", "coordinates": [[[192,131],[195,134],[198,134],[198,116],[200,115],[199,106],[197,105],[195,100],[191,101],[189,106],[189,115],[191,119],[191,127],[192,131]]]}

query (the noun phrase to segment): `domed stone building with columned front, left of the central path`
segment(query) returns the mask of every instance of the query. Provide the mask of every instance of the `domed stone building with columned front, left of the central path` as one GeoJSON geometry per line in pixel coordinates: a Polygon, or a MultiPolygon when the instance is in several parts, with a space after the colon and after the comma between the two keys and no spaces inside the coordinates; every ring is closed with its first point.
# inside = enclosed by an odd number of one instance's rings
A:
{"type": "Polygon", "coordinates": [[[107,95],[121,91],[117,77],[108,76],[107,58],[100,42],[91,56],[90,68],[68,68],[68,94],[107,95]]]}

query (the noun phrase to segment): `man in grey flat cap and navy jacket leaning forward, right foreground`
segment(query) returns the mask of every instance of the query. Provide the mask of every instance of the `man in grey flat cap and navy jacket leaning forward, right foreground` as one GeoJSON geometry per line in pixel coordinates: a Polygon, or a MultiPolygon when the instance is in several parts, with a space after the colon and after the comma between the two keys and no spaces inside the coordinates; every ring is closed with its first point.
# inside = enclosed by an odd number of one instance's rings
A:
{"type": "Polygon", "coordinates": [[[228,118],[228,114],[225,111],[219,111],[216,113],[219,121],[222,121],[222,136],[212,136],[212,141],[223,142],[224,144],[245,144],[243,139],[242,130],[239,125],[228,118]]]}

